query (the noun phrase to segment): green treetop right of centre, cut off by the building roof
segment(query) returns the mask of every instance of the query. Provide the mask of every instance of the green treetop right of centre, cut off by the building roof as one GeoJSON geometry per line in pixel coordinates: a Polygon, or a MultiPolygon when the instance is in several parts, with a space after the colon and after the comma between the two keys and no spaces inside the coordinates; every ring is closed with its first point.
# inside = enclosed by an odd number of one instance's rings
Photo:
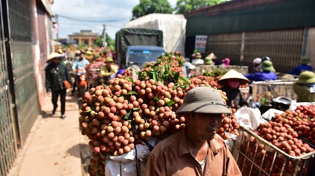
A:
{"type": "Polygon", "coordinates": [[[217,5],[225,1],[226,0],[177,0],[175,12],[176,14],[184,14],[202,7],[217,5]]]}

